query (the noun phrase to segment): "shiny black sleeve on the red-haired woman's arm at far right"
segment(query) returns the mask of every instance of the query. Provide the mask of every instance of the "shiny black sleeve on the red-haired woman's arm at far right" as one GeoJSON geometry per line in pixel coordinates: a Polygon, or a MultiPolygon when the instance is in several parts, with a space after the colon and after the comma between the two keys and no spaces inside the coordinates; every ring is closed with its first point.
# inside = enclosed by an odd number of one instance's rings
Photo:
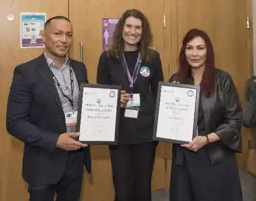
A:
{"type": "Polygon", "coordinates": [[[241,143],[242,108],[235,84],[228,74],[222,78],[222,84],[225,97],[225,116],[224,122],[215,129],[214,133],[227,147],[238,151],[241,143]]]}

